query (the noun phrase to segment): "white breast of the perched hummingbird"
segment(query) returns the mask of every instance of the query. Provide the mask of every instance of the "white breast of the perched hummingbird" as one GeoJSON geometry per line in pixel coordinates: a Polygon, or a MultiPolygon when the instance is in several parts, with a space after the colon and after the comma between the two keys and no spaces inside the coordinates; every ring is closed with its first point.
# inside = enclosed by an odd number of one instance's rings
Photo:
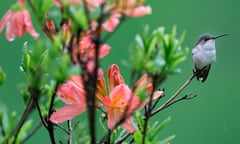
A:
{"type": "Polygon", "coordinates": [[[195,67],[202,69],[203,67],[216,61],[215,41],[208,40],[198,43],[192,49],[192,58],[195,67]]]}

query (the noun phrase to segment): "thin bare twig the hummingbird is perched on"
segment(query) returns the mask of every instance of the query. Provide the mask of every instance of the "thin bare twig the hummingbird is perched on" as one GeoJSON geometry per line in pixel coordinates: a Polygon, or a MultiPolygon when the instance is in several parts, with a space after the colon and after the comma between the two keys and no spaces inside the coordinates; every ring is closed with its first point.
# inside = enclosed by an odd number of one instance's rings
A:
{"type": "Polygon", "coordinates": [[[152,112],[150,116],[153,116],[158,112],[160,112],[161,110],[169,107],[170,106],[169,104],[171,104],[171,102],[173,102],[175,98],[191,83],[191,81],[195,76],[196,76],[196,73],[193,72],[192,75],[189,77],[189,79],[175,92],[175,94],[172,97],[170,97],[164,104],[162,104],[157,110],[152,112]]]}

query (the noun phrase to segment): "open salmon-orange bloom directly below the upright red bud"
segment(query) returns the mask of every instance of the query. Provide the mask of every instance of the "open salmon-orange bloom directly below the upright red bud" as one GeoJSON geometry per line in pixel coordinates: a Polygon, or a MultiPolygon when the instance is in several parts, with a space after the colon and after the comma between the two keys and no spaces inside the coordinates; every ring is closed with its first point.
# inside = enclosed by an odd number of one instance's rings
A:
{"type": "MultiPolygon", "coordinates": [[[[124,114],[129,115],[138,108],[140,99],[138,96],[132,94],[131,89],[127,85],[120,84],[110,92],[109,97],[104,97],[102,103],[107,112],[108,128],[113,130],[117,122],[124,117],[124,114]]],[[[121,127],[128,133],[135,131],[132,121],[132,116],[129,116],[121,124],[121,127]]]]}

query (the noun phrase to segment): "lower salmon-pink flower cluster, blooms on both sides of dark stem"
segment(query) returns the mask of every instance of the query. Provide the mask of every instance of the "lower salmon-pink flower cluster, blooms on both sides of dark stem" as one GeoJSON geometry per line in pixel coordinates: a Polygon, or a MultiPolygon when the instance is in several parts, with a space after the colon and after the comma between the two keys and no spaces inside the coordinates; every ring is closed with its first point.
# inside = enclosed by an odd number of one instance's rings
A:
{"type": "MultiPolygon", "coordinates": [[[[103,74],[98,75],[96,107],[99,108],[102,105],[105,108],[109,129],[114,130],[116,124],[121,119],[126,118],[121,127],[128,133],[133,133],[135,127],[132,125],[133,118],[131,115],[149,102],[149,97],[141,101],[137,91],[145,90],[150,95],[152,83],[147,75],[144,75],[133,88],[129,88],[116,64],[109,67],[107,77],[108,89],[103,74]],[[109,91],[109,94],[107,91],[109,91]]],[[[58,88],[57,94],[66,106],[52,114],[50,117],[52,122],[58,124],[71,120],[86,110],[86,93],[81,76],[71,76],[66,83],[58,88]]],[[[162,94],[162,91],[154,92],[153,99],[161,97],[162,94]]]]}

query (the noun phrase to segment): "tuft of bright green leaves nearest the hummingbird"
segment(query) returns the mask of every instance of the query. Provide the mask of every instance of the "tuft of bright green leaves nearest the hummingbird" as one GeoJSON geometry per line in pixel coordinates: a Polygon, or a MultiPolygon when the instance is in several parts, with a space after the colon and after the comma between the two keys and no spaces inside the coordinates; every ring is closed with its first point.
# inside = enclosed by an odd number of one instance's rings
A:
{"type": "Polygon", "coordinates": [[[188,48],[182,48],[185,33],[176,38],[177,28],[165,34],[165,28],[159,27],[152,33],[145,26],[141,34],[136,36],[136,46],[132,49],[130,60],[134,72],[148,72],[164,79],[168,74],[179,72],[177,66],[188,55],[188,48]]]}

